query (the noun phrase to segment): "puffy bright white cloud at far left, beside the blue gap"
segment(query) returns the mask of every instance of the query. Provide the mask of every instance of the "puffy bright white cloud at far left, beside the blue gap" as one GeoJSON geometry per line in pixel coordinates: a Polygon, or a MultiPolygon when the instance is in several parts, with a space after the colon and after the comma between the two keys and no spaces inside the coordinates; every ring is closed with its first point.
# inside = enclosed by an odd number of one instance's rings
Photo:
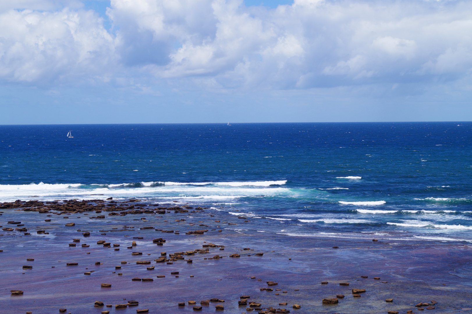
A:
{"type": "Polygon", "coordinates": [[[0,77],[51,84],[103,75],[113,39],[93,11],[8,10],[0,13],[0,77]]]}

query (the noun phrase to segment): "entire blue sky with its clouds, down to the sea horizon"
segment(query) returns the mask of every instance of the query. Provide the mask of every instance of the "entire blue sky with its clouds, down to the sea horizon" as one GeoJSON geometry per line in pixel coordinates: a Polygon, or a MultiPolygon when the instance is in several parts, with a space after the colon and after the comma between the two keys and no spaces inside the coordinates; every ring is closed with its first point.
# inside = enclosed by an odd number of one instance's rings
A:
{"type": "Polygon", "coordinates": [[[0,124],[472,120],[472,3],[3,0],[0,124]]]}

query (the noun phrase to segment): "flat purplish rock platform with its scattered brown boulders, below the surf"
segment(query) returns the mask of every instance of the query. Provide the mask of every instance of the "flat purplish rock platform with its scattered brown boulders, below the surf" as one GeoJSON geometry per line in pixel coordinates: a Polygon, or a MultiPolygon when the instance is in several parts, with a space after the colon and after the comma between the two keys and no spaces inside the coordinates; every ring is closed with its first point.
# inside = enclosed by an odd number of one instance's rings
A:
{"type": "Polygon", "coordinates": [[[295,237],[144,199],[0,211],[0,313],[472,314],[470,243],[295,237]]]}

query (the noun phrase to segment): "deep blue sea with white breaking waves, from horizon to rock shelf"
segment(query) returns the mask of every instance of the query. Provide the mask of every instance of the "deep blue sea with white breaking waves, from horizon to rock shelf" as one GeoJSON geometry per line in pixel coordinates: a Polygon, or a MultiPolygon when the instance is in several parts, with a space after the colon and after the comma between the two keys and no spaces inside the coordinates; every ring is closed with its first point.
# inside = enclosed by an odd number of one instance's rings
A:
{"type": "Polygon", "coordinates": [[[0,201],[178,201],[244,215],[240,232],[469,245],[471,149],[471,122],[3,125],[0,201]]]}

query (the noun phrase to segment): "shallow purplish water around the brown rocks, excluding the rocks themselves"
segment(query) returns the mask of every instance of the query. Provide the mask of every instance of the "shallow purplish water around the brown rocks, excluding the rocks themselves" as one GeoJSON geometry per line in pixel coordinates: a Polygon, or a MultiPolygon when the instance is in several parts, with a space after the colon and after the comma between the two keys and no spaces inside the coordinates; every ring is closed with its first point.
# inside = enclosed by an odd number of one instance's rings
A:
{"type": "MultiPolygon", "coordinates": [[[[12,231],[4,232],[1,237],[0,288],[5,293],[0,299],[3,304],[8,304],[8,311],[0,309],[1,313],[13,313],[11,309],[15,309],[15,313],[55,313],[59,308],[67,308],[67,313],[100,313],[103,310],[135,313],[136,307],[114,308],[116,304],[126,302],[123,298],[138,300],[137,308],[148,308],[150,313],[180,313],[193,310],[192,306],[177,306],[178,302],[195,300],[199,303],[212,297],[225,300],[222,303],[225,313],[243,313],[246,306],[237,305],[242,295],[251,296],[250,301],[258,301],[264,308],[287,308],[291,313],[386,313],[388,310],[405,313],[414,309],[411,304],[430,300],[438,301],[435,313],[455,313],[471,305],[472,252],[469,246],[463,244],[293,237],[253,231],[252,226],[259,221],[241,223],[242,220],[235,215],[208,209],[204,213],[190,215],[167,213],[163,218],[140,214],[89,219],[86,215],[71,214],[67,215],[69,218],[66,220],[63,219],[65,215],[52,215],[47,217],[51,218],[51,222],[43,221],[46,214],[11,209],[3,211],[2,221],[21,217],[21,223],[31,229],[28,230],[31,235],[21,236],[21,233],[12,231]],[[147,221],[141,221],[142,217],[147,221]],[[169,222],[164,222],[164,219],[169,219],[169,222]],[[174,222],[175,219],[185,221],[174,222]],[[220,220],[220,223],[214,220],[220,220]],[[65,223],[70,222],[76,225],[66,227],[65,223]],[[209,227],[205,228],[209,231],[204,235],[185,234],[185,231],[202,228],[197,227],[199,222],[207,224],[209,227]],[[189,223],[195,225],[190,226],[189,223]],[[227,223],[238,223],[240,229],[232,230],[227,223]],[[135,228],[110,232],[120,230],[124,225],[135,228]],[[139,229],[143,226],[179,230],[180,234],[139,229]],[[36,234],[34,231],[39,229],[49,234],[36,234]],[[103,230],[106,230],[105,235],[101,235],[103,230]],[[91,236],[84,237],[82,231],[91,231],[91,236]],[[143,239],[133,239],[137,236],[143,239]],[[152,239],[158,237],[167,240],[163,246],[152,243],[152,239]],[[68,243],[72,243],[73,238],[81,241],[77,247],[71,248],[68,243]],[[120,244],[120,250],[97,245],[98,240],[120,244]],[[132,240],[137,242],[137,246],[127,249],[132,240]],[[182,260],[170,265],[153,262],[160,257],[160,252],[170,254],[202,248],[205,242],[224,245],[225,249],[210,248],[209,254],[185,257],[193,260],[191,264],[182,260]],[[82,248],[82,243],[90,247],[82,248]],[[143,255],[132,256],[132,251],[143,252],[143,255]],[[241,257],[228,257],[233,253],[239,253],[241,257]],[[253,256],[254,253],[264,255],[253,256]],[[214,255],[226,257],[204,259],[214,255]],[[26,258],[34,258],[34,261],[26,261],[26,258]],[[152,261],[155,269],[148,271],[146,267],[149,265],[135,264],[137,260],[152,261]],[[102,264],[95,265],[97,261],[102,264]],[[121,261],[127,264],[120,264],[121,261]],[[79,264],[66,266],[70,262],[79,264]],[[23,264],[32,265],[33,269],[23,270],[23,264]],[[117,265],[122,268],[115,270],[117,265]],[[95,272],[84,275],[84,272],[91,270],[95,272]],[[175,271],[179,272],[178,278],[170,275],[175,271]],[[118,276],[117,273],[123,275],[118,276]],[[162,274],[166,277],[156,278],[162,274]],[[369,278],[361,278],[362,275],[369,278]],[[251,276],[261,281],[250,279],[251,276]],[[374,280],[376,276],[381,279],[374,280]],[[153,278],[154,281],[131,281],[134,277],[153,278]],[[260,291],[260,288],[267,287],[265,281],[278,282],[272,288],[281,291],[260,291]],[[328,281],[329,284],[320,284],[321,281],[328,281]],[[111,283],[112,287],[101,288],[103,282],[111,283]],[[339,286],[339,282],[349,282],[350,285],[339,286]],[[350,293],[353,288],[367,291],[361,298],[354,298],[350,293]],[[10,296],[10,289],[25,292],[22,296],[10,296]],[[337,294],[346,295],[339,299],[339,304],[321,304],[322,298],[336,297],[337,294]],[[386,298],[394,298],[394,302],[387,303],[386,298]],[[113,308],[93,307],[95,301],[112,304],[113,308]],[[287,306],[278,306],[279,302],[287,302],[287,306]],[[300,304],[302,308],[292,309],[293,304],[300,304]]],[[[214,312],[215,304],[219,303],[203,306],[203,312],[214,312]]]]}

